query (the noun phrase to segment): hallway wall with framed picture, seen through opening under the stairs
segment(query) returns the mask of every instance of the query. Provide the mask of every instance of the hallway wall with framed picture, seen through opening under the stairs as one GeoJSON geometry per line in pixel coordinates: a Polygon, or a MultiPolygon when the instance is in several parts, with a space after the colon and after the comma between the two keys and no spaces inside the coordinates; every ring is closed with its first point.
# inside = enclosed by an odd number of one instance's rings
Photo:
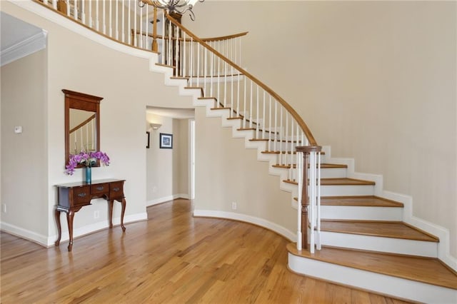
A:
{"type": "Polygon", "coordinates": [[[189,196],[189,120],[146,113],[146,129],[151,133],[146,149],[146,201],[148,205],[170,197],[189,196]],[[157,130],[149,123],[161,123],[157,130]],[[173,134],[173,149],[159,148],[160,133],[173,134]]]}

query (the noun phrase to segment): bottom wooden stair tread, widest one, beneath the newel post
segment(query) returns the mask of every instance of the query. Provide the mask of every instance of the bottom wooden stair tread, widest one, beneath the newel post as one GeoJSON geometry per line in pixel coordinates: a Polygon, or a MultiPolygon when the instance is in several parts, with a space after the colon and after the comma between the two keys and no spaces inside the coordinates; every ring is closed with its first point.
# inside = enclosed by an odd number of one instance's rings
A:
{"type": "Polygon", "coordinates": [[[343,248],[322,248],[311,254],[308,250],[298,251],[296,243],[288,243],[287,250],[289,253],[303,258],[457,289],[456,273],[446,268],[436,258],[373,253],[343,248]]]}

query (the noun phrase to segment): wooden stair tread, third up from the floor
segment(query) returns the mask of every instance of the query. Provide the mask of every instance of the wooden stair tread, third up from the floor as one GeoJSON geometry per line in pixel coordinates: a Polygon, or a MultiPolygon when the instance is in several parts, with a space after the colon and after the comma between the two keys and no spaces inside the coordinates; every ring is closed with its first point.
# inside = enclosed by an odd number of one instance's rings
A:
{"type": "Polygon", "coordinates": [[[402,203],[378,196],[322,196],[321,205],[325,206],[370,206],[403,207],[402,203]]]}

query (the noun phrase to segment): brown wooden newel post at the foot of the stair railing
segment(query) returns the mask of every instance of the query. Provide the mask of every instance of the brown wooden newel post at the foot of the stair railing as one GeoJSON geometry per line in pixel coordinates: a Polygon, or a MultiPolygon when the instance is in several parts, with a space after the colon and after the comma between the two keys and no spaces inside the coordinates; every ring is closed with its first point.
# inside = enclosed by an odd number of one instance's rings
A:
{"type": "MultiPolygon", "coordinates": [[[[308,167],[309,167],[309,156],[312,152],[321,152],[321,146],[297,146],[296,151],[303,153],[303,178],[301,187],[301,245],[303,249],[308,249],[308,208],[309,208],[309,199],[310,191],[308,189],[308,167]]],[[[313,168],[316,170],[316,168],[313,168]]],[[[313,231],[311,231],[313,233],[313,231]]]]}

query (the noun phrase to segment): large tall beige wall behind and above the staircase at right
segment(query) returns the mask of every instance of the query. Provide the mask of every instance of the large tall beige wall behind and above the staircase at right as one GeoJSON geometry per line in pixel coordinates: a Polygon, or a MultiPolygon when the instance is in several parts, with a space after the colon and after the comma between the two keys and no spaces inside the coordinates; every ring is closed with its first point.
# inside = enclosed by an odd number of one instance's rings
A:
{"type": "Polygon", "coordinates": [[[249,31],[242,66],[332,156],[382,174],[386,191],[413,198],[413,216],[450,230],[457,257],[456,6],[205,1],[183,21],[204,37],[249,31]]]}

